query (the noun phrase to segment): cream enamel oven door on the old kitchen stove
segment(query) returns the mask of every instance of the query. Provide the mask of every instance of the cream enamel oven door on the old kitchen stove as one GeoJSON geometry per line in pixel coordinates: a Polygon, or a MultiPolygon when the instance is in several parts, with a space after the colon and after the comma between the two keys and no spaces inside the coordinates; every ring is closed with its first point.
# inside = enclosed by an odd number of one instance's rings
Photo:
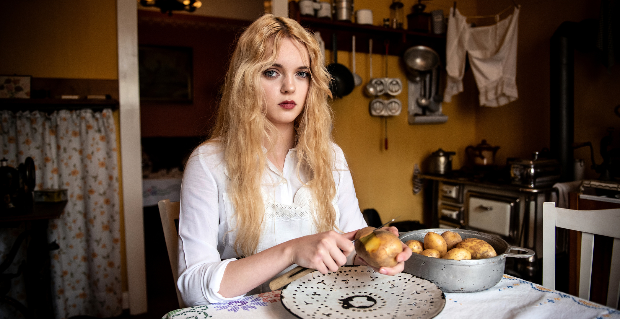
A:
{"type": "Polygon", "coordinates": [[[466,198],[469,227],[511,237],[510,222],[516,199],[468,192],[466,198]]]}

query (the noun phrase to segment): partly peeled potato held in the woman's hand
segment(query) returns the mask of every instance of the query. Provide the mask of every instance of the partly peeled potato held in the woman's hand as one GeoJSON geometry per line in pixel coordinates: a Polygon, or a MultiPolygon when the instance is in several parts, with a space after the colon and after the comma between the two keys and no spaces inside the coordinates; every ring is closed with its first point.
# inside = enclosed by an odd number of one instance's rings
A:
{"type": "Polygon", "coordinates": [[[355,251],[360,257],[375,268],[394,267],[398,263],[396,255],[402,252],[402,242],[394,233],[374,227],[364,227],[355,234],[355,251]],[[370,238],[360,239],[371,234],[370,238]]]}

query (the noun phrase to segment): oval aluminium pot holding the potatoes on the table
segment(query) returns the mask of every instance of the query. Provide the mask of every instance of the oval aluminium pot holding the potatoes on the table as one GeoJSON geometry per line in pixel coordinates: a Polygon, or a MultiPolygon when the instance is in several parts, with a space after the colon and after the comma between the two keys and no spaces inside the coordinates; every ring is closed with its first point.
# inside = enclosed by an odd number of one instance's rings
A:
{"type": "Polygon", "coordinates": [[[464,229],[420,229],[401,234],[402,242],[419,240],[423,242],[427,232],[443,232],[450,230],[458,233],[461,238],[478,238],[489,243],[497,252],[493,258],[476,260],[449,260],[430,258],[413,254],[405,261],[405,273],[422,277],[435,283],[443,292],[476,292],[495,286],[504,273],[506,257],[528,258],[534,256],[534,251],[509,245],[505,240],[495,235],[464,229]],[[511,253],[511,250],[526,251],[523,254],[511,253]]]}

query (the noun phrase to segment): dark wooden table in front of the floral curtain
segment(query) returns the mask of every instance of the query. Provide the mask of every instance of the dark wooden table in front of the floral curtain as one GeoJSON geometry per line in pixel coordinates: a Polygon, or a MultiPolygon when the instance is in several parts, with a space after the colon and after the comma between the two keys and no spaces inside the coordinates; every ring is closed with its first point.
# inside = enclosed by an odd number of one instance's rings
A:
{"type": "MultiPolygon", "coordinates": [[[[0,212],[0,227],[15,228],[25,222],[25,234],[30,238],[26,251],[24,281],[27,316],[30,318],[53,318],[51,305],[50,250],[58,249],[58,244],[48,243],[47,225],[50,219],[62,214],[67,201],[57,203],[33,203],[27,209],[14,209],[0,212]]],[[[20,237],[25,237],[20,235],[20,237]]],[[[21,242],[17,242],[18,247],[21,242]]],[[[12,260],[7,260],[7,267],[12,260]]],[[[15,300],[17,302],[17,300],[15,300]]],[[[23,307],[23,305],[22,305],[23,307]]]]}

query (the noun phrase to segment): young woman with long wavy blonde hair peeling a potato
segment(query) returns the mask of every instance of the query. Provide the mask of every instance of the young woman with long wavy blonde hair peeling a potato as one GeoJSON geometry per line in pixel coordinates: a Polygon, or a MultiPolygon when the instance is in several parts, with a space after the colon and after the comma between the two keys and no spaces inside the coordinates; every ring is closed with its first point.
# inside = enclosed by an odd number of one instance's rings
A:
{"type": "MultiPolygon", "coordinates": [[[[265,14],[239,38],[213,137],[185,165],[177,285],[188,306],[269,291],[294,264],[365,264],[351,242],[366,223],[332,142],[328,83],[318,43],[296,21],[265,14]]],[[[376,270],[402,271],[403,247],[396,266],[376,270]]]]}

